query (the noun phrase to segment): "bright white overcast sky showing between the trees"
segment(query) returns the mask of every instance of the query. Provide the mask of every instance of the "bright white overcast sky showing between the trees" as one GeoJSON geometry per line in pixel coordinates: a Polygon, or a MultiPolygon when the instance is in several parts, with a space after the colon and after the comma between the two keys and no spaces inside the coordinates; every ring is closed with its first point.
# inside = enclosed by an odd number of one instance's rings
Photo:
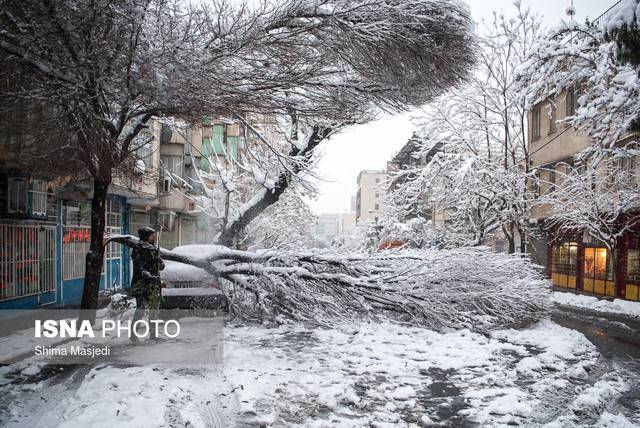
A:
{"type": "MultiPolygon", "coordinates": [[[[493,11],[505,15],[515,13],[513,0],[466,0],[474,20],[490,20],[493,11]]],[[[576,21],[596,18],[614,0],[573,0],[576,21]]],[[[543,16],[544,25],[555,25],[565,19],[571,0],[522,0],[522,7],[530,7],[543,16]]],[[[342,131],[325,141],[320,148],[323,157],[318,165],[318,198],[311,201],[314,212],[348,212],[351,196],[356,193],[356,178],[363,169],[383,169],[387,161],[406,143],[413,132],[410,114],[383,117],[366,125],[342,131]]]]}

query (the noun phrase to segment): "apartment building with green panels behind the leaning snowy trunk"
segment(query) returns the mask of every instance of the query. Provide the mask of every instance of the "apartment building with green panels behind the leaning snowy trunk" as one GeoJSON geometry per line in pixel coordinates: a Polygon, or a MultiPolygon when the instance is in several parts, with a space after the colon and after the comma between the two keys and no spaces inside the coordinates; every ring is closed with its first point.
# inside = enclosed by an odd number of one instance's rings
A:
{"type": "Polygon", "coordinates": [[[212,243],[222,227],[215,213],[223,213],[225,203],[211,198],[220,185],[218,168],[237,169],[236,159],[259,138],[280,138],[272,117],[219,115],[179,128],[160,124],[159,205],[150,214],[136,213],[136,221],[156,224],[164,248],[212,243]]]}

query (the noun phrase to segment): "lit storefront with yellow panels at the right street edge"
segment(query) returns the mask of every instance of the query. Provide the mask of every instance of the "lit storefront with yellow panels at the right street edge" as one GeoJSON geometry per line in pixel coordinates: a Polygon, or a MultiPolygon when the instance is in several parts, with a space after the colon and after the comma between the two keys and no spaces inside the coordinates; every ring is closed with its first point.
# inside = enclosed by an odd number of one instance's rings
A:
{"type": "Polygon", "coordinates": [[[547,268],[554,287],[597,296],[640,300],[640,245],[637,236],[615,250],[594,242],[562,239],[549,244],[547,268]],[[616,275],[614,275],[614,269],[616,275]]]}

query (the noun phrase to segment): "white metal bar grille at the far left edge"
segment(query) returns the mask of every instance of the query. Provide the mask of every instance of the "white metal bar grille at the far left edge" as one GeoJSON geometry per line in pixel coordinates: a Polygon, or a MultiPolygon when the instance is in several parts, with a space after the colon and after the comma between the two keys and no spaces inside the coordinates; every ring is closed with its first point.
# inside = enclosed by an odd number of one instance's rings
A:
{"type": "Polygon", "coordinates": [[[53,225],[0,224],[0,300],[56,289],[53,225]]]}

